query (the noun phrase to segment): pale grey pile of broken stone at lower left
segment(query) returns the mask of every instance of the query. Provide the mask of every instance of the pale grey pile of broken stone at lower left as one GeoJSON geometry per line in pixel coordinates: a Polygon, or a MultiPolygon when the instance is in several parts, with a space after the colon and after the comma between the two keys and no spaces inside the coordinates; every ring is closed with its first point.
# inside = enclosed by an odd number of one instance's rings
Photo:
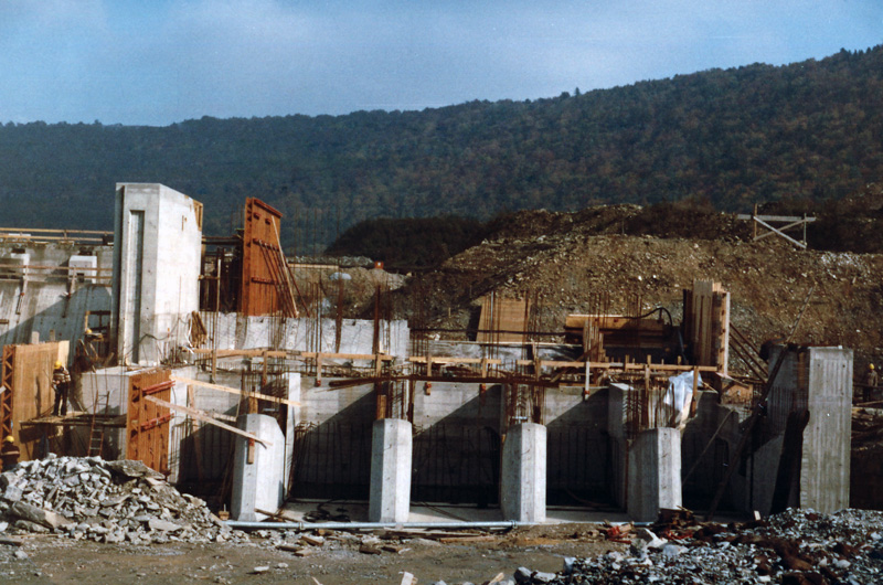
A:
{"type": "Polygon", "coordinates": [[[245,540],[141,461],[55,457],[0,474],[0,531],[149,544],[245,540]]]}

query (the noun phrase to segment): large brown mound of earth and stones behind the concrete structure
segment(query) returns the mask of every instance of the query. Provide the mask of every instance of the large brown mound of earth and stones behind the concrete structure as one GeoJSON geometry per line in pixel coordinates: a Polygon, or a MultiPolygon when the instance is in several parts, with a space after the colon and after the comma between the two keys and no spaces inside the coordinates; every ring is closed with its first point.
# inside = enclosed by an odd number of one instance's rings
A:
{"type": "MultiPolygon", "coordinates": [[[[880,353],[883,255],[802,251],[780,238],[753,243],[745,237],[749,222],[722,214],[699,225],[716,233],[714,240],[615,232],[617,224],[646,221],[642,211],[616,205],[514,214],[480,245],[412,278],[398,307],[429,326],[466,328],[483,295],[536,294],[540,327],[552,331],[563,329],[567,313],[623,312],[636,301],[645,309],[666,307],[679,319],[682,289],[694,279],[713,279],[731,291],[733,325],[757,347],[791,329],[812,290],[792,341],[853,348],[860,354],[857,371],[880,353]]],[[[682,226],[698,225],[700,217],[682,226]]],[[[681,228],[671,221],[664,225],[670,233],[681,228]]]]}

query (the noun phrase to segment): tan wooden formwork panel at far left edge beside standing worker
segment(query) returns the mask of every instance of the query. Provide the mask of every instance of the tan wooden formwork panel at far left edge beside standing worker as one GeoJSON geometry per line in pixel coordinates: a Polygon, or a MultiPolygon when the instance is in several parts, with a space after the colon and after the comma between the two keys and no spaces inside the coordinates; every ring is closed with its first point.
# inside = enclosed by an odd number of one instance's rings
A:
{"type": "MultiPolygon", "coordinates": [[[[2,437],[12,435],[21,450],[21,460],[38,457],[36,448],[43,429],[22,428],[22,423],[52,412],[55,393],[52,370],[55,362],[67,362],[67,341],[6,345],[3,348],[0,394],[0,428],[2,437]]],[[[0,438],[2,438],[0,437],[0,438]]]]}

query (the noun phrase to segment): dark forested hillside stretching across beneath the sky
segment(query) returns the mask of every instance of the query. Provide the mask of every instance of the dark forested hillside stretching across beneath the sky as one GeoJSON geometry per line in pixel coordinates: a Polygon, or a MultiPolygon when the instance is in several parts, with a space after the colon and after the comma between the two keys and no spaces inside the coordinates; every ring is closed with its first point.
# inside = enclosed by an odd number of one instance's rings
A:
{"type": "Polygon", "coordinates": [[[246,196],[310,252],[360,220],[695,199],[840,199],[883,176],[883,46],[533,102],[0,127],[0,225],[113,227],[114,184],[161,182],[226,234],[246,196]]]}

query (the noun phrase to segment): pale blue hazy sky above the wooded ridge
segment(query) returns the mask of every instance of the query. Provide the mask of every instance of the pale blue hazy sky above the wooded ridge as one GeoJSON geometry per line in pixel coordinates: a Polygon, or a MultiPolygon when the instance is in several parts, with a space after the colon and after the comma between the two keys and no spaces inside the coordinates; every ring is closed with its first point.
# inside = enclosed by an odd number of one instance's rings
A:
{"type": "Polygon", "coordinates": [[[0,0],[0,123],[521,100],[881,43],[882,0],[0,0]]]}

